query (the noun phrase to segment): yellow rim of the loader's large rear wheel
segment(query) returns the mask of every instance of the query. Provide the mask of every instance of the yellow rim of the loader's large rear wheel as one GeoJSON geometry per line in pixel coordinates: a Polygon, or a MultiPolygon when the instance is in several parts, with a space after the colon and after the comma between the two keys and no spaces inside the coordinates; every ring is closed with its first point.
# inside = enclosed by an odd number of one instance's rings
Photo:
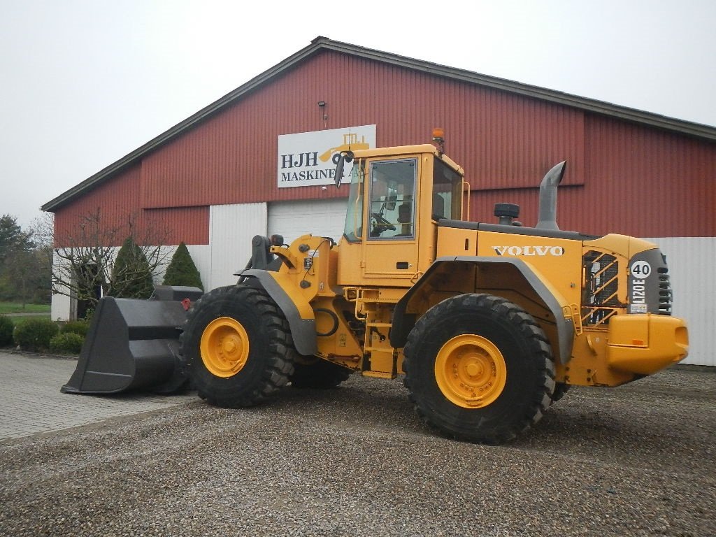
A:
{"type": "Polygon", "coordinates": [[[507,365],[500,349],[476,334],[446,342],[435,359],[435,379],[442,395],[463,408],[486,407],[500,397],[507,365]]]}

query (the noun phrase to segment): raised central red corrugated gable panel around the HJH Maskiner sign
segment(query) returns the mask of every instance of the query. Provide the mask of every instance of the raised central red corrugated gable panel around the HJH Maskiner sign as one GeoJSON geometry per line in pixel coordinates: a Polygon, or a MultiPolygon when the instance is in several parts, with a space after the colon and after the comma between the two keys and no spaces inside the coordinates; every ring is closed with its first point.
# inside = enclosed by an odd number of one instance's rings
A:
{"type": "Polygon", "coordinates": [[[584,180],[581,112],[326,52],[145,158],[142,203],[321,198],[320,188],[276,188],[279,135],[372,123],[381,146],[425,143],[432,127],[445,127],[448,153],[475,164],[475,188],[532,185],[536,165],[565,155],[569,182],[584,180]],[[319,100],[327,103],[327,122],[319,100]]]}

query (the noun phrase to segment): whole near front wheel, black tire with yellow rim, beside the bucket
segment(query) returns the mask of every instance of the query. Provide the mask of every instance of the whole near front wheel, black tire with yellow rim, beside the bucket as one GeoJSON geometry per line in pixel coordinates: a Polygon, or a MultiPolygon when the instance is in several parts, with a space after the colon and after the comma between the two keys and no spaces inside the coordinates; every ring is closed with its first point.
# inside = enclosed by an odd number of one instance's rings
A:
{"type": "Polygon", "coordinates": [[[213,289],[193,304],[181,337],[185,371],[199,397],[250,407],[286,385],[296,350],[289,324],[263,289],[213,289]]]}

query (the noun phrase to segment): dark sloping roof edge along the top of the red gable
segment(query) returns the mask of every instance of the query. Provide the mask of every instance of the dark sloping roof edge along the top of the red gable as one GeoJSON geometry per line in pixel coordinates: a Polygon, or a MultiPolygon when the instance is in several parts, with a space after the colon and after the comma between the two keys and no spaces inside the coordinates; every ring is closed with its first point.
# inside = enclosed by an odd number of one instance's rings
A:
{"type": "Polygon", "coordinates": [[[621,120],[638,123],[641,125],[649,125],[651,127],[657,127],[659,129],[668,130],[671,132],[678,132],[679,134],[689,135],[697,137],[703,140],[716,140],[716,128],[710,127],[709,125],[701,125],[695,122],[677,120],[671,117],[663,115],[652,114],[650,112],[644,112],[642,110],[636,110],[634,108],[623,107],[619,105],[612,105],[609,102],[602,102],[599,100],[587,99],[585,97],[578,97],[576,95],[570,95],[568,93],[558,92],[553,89],[546,89],[543,87],[531,86],[529,84],[522,84],[521,82],[514,82],[512,80],[502,79],[498,77],[490,77],[485,74],[480,74],[465,69],[456,69],[455,67],[447,67],[445,65],[435,64],[431,62],[425,62],[421,59],[413,59],[405,56],[399,56],[397,54],[391,54],[390,52],[382,52],[374,49],[367,49],[365,47],[358,47],[357,45],[342,43],[328,39],[327,37],[316,37],[308,47],[299,50],[296,54],[284,59],[283,62],[276,64],[271,69],[264,71],[257,77],[252,78],[246,84],[233,90],[233,92],[221,97],[216,102],[211,103],[207,107],[199,110],[194,115],[188,117],[182,122],[178,123],[169,130],[163,132],[158,137],[150,140],[145,145],[132,151],[132,153],[125,157],[117,160],[117,162],[110,164],[107,168],[100,170],[99,172],[87,178],[78,185],[70,188],[66,192],[57,196],[44,205],[42,205],[43,211],[54,211],[55,209],[69,203],[74,198],[82,195],[86,190],[89,190],[96,185],[102,183],[102,181],[111,178],[113,175],[125,170],[127,166],[132,165],[138,159],[144,155],[153,152],[154,150],[161,147],[166,142],[173,140],[173,138],[180,135],[185,130],[188,130],[200,122],[203,122],[208,117],[215,115],[218,112],[234,102],[241,100],[241,98],[259,89],[263,84],[270,82],[281,72],[285,72],[287,69],[295,67],[300,64],[304,59],[311,57],[324,50],[330,50],[334,52],[340,52],[342,54],[349,54],[357,57],[363,57],[371,59],[376,62],[384,62],[387,64],[393,64],[406,69],[414,69],[416,71],[433,74],[437,77],[445,77],[448,79],[461,80],[469,84],[477,84],[480,86],[491,87],[494,89],[500,89],[505,92],[510,92],[518,95],[525,95],[527,97],[533,97],[535,99],[544,100],[548,102],[558,103],[573,107],[579,110],[585,110],[587,112],[593,112],[599,115],[606,115],[611,117],[617,117],[621,120]]]}

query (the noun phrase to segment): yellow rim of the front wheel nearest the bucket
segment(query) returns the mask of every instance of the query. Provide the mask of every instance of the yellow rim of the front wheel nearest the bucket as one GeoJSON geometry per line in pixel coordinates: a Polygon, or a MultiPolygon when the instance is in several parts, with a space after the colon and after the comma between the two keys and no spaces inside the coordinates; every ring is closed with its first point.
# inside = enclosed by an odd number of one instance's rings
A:
{"type": "Polygon", "coordinates": [[[217,377],[233,377],[246,365],[248,334],[241,323],[231,317],[219,317],[201,334],[201,361],[217,377]]]}

